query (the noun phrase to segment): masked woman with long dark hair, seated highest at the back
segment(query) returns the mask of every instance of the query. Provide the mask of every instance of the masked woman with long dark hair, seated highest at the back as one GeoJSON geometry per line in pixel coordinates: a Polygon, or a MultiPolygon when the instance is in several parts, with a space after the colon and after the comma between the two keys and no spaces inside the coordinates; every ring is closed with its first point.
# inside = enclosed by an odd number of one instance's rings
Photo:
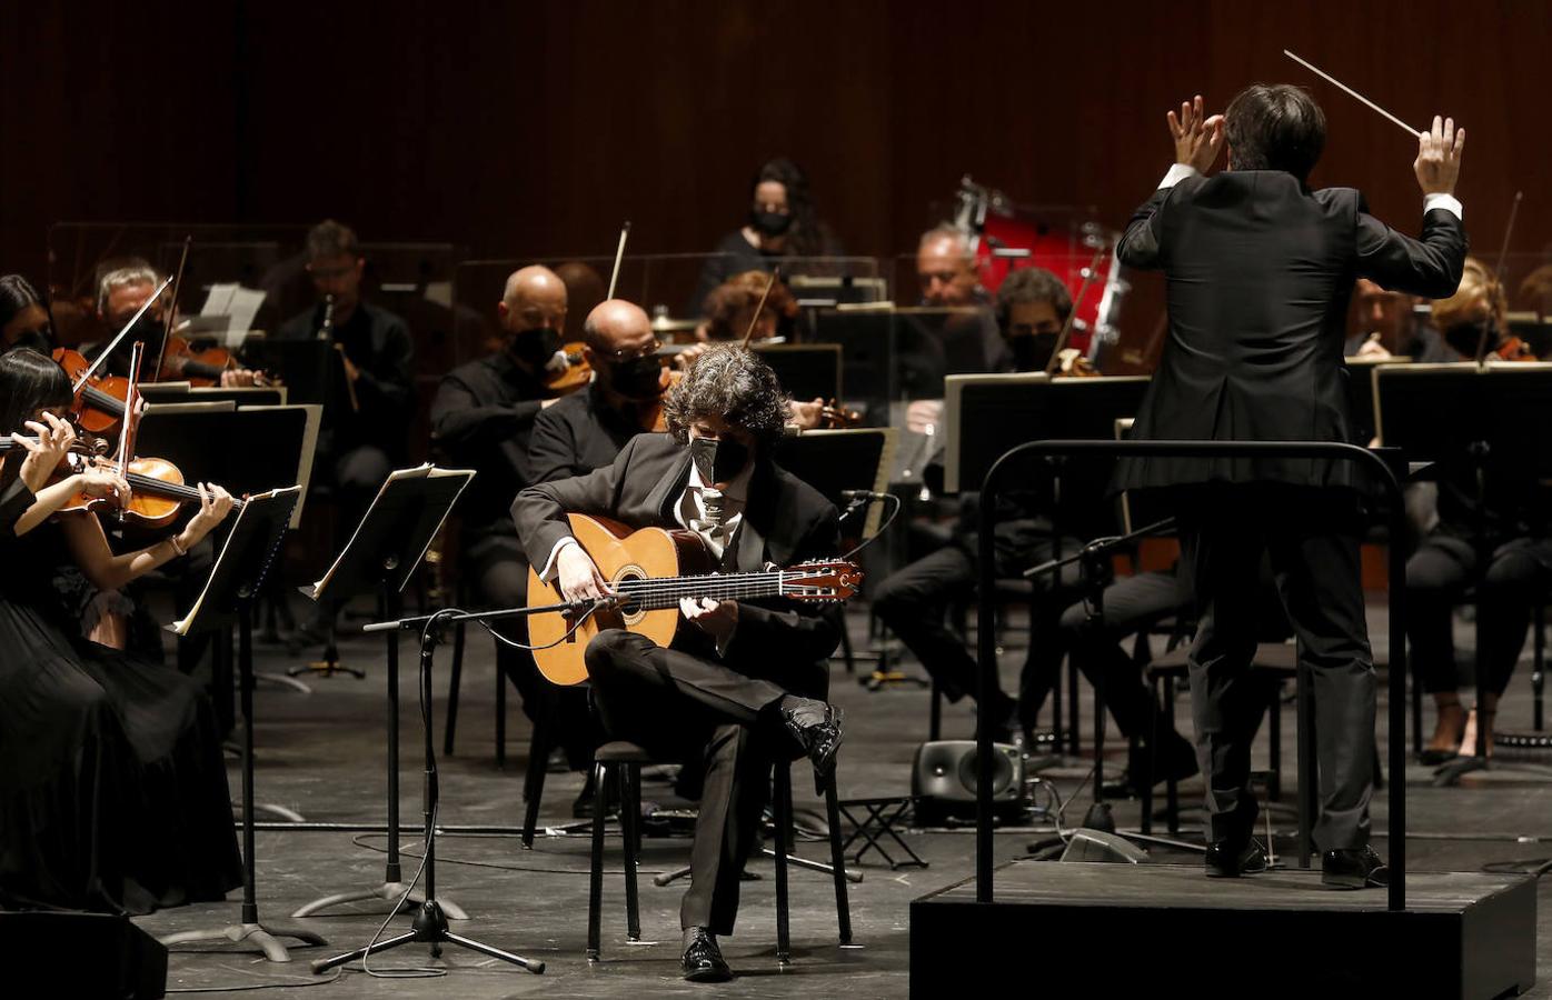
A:
{"type": "Polygon", "coordinates": [[[770,271],[784,257],[840,254],[840,240],[815,211],[809,175],[792,160],[778,157],[754,174],[748,219],[723,236],[714,256],[702,265],[686,315],[705,315],[706,296],[734,274],[770,271]]]}

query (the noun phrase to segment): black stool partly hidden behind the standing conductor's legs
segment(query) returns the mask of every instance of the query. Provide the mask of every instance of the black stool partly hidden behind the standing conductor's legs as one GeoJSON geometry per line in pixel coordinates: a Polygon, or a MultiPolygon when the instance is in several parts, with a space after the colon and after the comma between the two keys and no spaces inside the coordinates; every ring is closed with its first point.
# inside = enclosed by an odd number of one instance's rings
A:
{"type": "MultiPolygon", "coordinates": [[[[1139,781],[1142,789],[1142,833],[1153,833],[1153,772],[1158,764],[1158,732],[1159,719],[1175,729],[1175,685],[1187,676],[1187,647],[1176,647],[1147,665],[1145,676],[1153,687],[1153,698],[1158,701],[1158,712],[1153,715],[1153,733],[1148,736],[1144,760],[1148,774],[1139,781]]],[[[1308,671],[1299,665],[1297,647],[1287,642],[1262,643],[1256,647],[1256,657],[1251,660],[1251,673],[1270,681],[1270,696],[1266,699],[1268,736],[1271,752],[1268,755],[1266,798],[1279,802],[1282,798],[1282,690],[1290,679],[1297,690],[1297,780],[1299,780],[1299,867],[1310,867],[1310,845],[1318,809],[1315,783],[1315,698],[1310,691],[1308,671]]],[[[1169,833],[1180,833],[1180,783],[1172,777],[1164,781],[1164,816],[1169,833]]]]}

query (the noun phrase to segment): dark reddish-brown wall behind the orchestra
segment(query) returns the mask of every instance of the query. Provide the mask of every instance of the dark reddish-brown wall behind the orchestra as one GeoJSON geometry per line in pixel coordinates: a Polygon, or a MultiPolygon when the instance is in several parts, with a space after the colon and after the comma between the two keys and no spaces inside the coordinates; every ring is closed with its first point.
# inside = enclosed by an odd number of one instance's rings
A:
{"type": "Polygon", "coordinates": [[[1460,197],[1496,254],[1552,234],[1544,65],[1524,3],[9,3],[0,14],[0,271],[56,220],[303,223],[476,256],[709,250],[787,153],[850,253],[914,247],[959,177],[1119,225],[1170,163],[1164,112],[1308,84],[1316,184],[1417,225],[1403,119],[1468,126],[1460,197]]]}

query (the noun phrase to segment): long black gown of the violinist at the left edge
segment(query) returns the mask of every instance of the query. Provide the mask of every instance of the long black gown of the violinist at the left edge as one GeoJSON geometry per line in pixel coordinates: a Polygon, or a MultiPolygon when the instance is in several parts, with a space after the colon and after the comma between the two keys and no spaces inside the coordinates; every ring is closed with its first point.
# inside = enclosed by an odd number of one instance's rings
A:
{"type": "Polygon", "coordinates": [[[82,639],[57,527],[0,485],[0,907],[147,913],[242,881],[220,735],[177,670],[82,639]]]}

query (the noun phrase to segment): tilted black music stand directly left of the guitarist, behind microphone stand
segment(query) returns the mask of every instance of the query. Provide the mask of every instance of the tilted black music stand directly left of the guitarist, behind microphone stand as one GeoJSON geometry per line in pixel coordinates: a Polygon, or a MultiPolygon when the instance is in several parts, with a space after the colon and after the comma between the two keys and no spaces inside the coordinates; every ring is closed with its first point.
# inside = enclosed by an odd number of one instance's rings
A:
{"type": "MultiPolygon", "coordinates": [[[[362,594],[377,592],[383,619],[399,617],[399,594],[404,591],[431,540],[442,527],[458,496],[475,478],[470,470],[447,470],[433,465],[402,468],[388,474],[372,505],[355,527],[334,566],[301,592],[312,600],[348,602],[362,594]]],[[[376,888],[334,893],[314,899],[292,916],[312,916],[340,902],[386,899],[421,905],[419,893],[405,895],[404,871],[399,864],[399,633],[388,631],[388,862],[383,882],[376,888]]],[[[441,901],[441,909],[453,919],[469,919],[453,902],[441,901]]]]}

